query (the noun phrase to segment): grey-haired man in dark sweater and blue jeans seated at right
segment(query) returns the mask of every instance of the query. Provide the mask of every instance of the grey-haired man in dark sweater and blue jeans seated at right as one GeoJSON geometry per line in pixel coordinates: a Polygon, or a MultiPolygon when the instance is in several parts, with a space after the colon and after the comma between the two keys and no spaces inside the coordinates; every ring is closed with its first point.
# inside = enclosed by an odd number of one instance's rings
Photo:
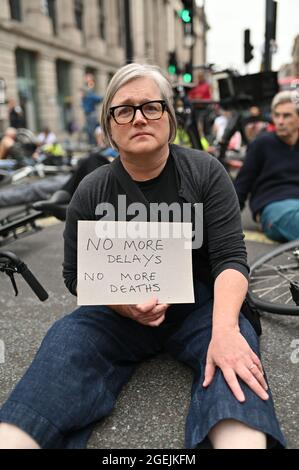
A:
{"type": "Polygon", "coordinates": [[[248,147],[235,188],[243,209],[249,195],[252,217],[272,240],[299,238],[299,94],[278,93],[271,105],[275,132],[248,147]]]}

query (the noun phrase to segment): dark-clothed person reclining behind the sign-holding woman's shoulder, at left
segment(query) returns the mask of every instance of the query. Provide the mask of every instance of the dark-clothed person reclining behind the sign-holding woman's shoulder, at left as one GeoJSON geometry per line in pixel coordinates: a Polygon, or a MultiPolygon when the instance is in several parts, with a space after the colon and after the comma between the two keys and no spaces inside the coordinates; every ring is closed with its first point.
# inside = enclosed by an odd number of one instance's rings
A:
{"type": "Polygon", "coordinates": [[[110,163],[110,159],[117,155],[115,150],[105,146],[100,127],[95,130],[95,139],[97,146],[79,162],[78,168],[63,187],[47,201],[38,201],[32,204],[34,209],[53,215],[59,220],[65,220],[67,206],[82,179],[100,166],[110,163]]]}

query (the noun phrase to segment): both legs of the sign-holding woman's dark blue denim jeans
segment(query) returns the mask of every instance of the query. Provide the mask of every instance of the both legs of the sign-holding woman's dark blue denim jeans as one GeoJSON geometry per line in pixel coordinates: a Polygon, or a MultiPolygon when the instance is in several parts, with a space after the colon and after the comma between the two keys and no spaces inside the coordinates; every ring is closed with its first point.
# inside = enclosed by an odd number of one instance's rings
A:
{"type": "MultiPolygon", "coordinates": [[[[112,411],[140,361],[167,351],[194,371],[187,448],[206,446],[210,429],[228,418],[266,433],[269,446],[285,446],[271,394],[263,401],[240,381],[246,402],[239,403],[220,369],[212,384],[202,387],[211,338],[211,295],[207,286],[199,284],[196,303],[171,306],[158,328],[103,306],[75,310],[50,329],[0,410],[0,421],[22,428],[43,448],[83,448],[94,424],[112,411]]],[[[240,328],[259,354],[258,338],[242,314],[240,328]]]]}

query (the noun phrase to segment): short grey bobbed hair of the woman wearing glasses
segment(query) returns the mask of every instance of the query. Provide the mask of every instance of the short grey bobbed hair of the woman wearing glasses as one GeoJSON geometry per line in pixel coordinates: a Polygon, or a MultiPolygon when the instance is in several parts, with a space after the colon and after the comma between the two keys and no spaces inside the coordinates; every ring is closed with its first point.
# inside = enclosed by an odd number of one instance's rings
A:
{"type": "Polygon", "coordinates": [[[112,77],[108,88],[106,90],[104,100],[102,103],[102,111],[101,111],[101,127],[103,130],[103,135],[105,141],[111,145],[111,147],[117,149],[116,143],[113,141],[111,136],[111,128],[110,128],[110,115],[109,109],[111,106],[111,102],[113,100],[114,95],[117,91],[128,82],[135,80],[137,78],[151,78],[156,85],[158,86],[161,97],[166,102],[166,109],[169,115],[169,125],[170,125],[170,133],[169,133],[169,143],[173,142],[176,136],[177,131],[177,121],[175,116],[175,110],[173,107],[173,93],[171,84],[167,80],[167,78],[163,75],[161,69],[155,65],[149,64],[137,64],[132,63],[125,65],[124,67],[120,68],[115,75],[112,77]]]}

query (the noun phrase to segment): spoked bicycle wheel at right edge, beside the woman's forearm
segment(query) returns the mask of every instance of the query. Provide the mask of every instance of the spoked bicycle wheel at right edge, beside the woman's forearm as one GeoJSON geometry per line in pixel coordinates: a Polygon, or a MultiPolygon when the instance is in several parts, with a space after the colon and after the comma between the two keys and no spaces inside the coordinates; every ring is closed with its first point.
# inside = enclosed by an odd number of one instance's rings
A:
{"type": "MultiPolygon", "coordinates": [[[[266,253],[265,255],[257,258],[251,265],[250,269],[250,275],[249,275],[249,290],[248,290],[248,296],[250,300],[254,303],[254,305],[265,312],[269,313],[276,313],[279,315],[293,315],[293,316],[299,316],[299,306],[297,306],[293,301],[291,301],[290,304],[286,305],[285,303],[279,303],[276,301],[277,297],[285,297],[285,295],[289,293],[289,284],[286,283],[286,281],[282,282],[280,287],[281,289],[284,290],[284,293],[280,294],[277,296],[278,292],[276,290],[276,286],[272,287],[263,287],[263,283],[266,283],[266,276],[262,276],[258,278],[258,276],[261,276],[261,269],[263,267],[267,267],[267,269],[272,269],[272,274],[268,276],[269,282],[270,278],[272,276],[272,281],[275,279],[275,277],[279,276],[277,269],[280,267],[280,264],[278,263],[279,259],[282,259],[283,256],[286,257],[293,257],[294,260],[297,263],[297,266],[292,265],[293,271],[292,276],[294,275],[295,279],[289,279],[289,281],[294,281],[294,280],[299,280],[299,261],[296,260],[295,255],[292,253],[292,250],[298,248],[299,249],[299,240],[293,240],[288,243],[284,243],[283,245],[275,248],[274,250],[270,251],[269,253],[266,253]],[[272,264],[270,264],[272,262],[272,264]],[[264,278],[264,279],[263,279],[264,278]],[[255,282],[256,281],[256,282],[255,282]],[[257,289],[257,283],[260,283],[260,287],[257,289]],[[262,297],[259,297],[257,290],[263,291],[265,295],[267,295],[267,291],[269,294],[275,293],[274,300],[271,301],[269,299],[264,299],[262,297]]],[[[285,268],[287,268],[287,265],[285,265],[285,268]]],[[[285,269],[286,270],[286,269],[285,269]]],[[[291,270],[291,267],[290,267],[291,270]]],[[[264,284],[266,285],[266,284],[264,284]]],[[[261,294],[261,295],[264,295],[261,294]]],[[[290,297],[288,298],[290,299],[290,297]]]]}

